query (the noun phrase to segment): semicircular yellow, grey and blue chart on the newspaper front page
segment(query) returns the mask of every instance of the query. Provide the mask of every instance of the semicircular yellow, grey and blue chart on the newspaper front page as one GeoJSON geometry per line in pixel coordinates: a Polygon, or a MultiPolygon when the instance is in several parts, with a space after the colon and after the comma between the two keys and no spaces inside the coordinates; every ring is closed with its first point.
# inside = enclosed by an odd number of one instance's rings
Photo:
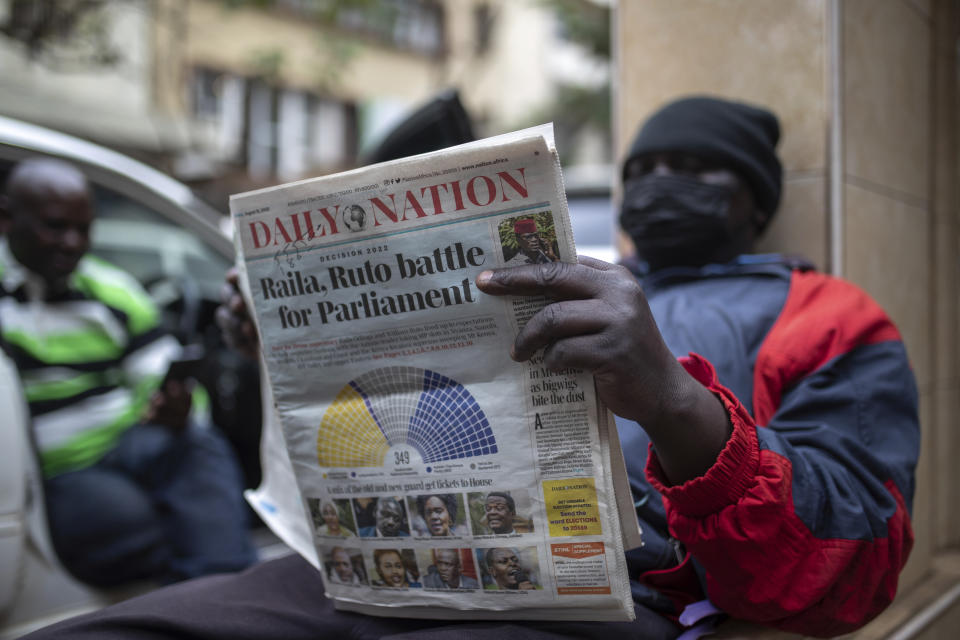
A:
{"type": "Polygon", "coordinates": [[[324,467],[381,466],[401,444],[424,463],[497,452],[483,409],[463,385],[426,369],[385,367],[340,390],[320,422],[317,455],[324,467]]]}

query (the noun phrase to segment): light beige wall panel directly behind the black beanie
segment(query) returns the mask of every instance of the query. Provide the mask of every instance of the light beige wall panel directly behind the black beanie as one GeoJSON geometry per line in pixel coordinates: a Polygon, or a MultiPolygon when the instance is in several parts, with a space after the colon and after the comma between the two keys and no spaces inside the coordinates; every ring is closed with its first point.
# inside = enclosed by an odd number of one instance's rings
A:
{"type": "Polygon", "coordinates": [[[826,0],[622,0],[615,22],[615,149],[659,105],[714,93],[781,120],[784,201],[761,250],[826,266],[826,0]],[[783,244],[781,244],[783,242],[783,244]]]}

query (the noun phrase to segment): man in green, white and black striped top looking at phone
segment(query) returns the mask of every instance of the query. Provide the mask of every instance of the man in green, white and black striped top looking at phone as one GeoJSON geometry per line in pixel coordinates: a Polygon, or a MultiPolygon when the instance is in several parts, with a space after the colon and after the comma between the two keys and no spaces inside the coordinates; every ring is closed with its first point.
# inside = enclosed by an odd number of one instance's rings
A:
{"type": "Polygon", "coordinates": [[[28,160],[0,200],[0,332],[29,404],[50,534],[79,579],[111,586],[243,569],[242,480],[226,441],[161,379],[180,351],[128,274],[87,255],[76,168],[28,160]]]}

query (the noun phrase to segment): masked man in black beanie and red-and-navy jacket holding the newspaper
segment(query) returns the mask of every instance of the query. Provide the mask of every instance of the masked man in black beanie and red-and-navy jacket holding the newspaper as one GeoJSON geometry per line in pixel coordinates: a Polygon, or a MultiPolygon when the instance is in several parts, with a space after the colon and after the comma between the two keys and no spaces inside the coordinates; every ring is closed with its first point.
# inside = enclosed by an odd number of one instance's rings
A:
{"type": "MultiPolygon", "coordinates": [[[[165,589],[73,630],[148,637],[156,619],[191,637],[649,640],[680,633],[668,619],[689,626],[718,609],[805,635],[865,624],[892,600],[913,542],[916,386],[897,329],[866,294],[749,255],[780,197],[778,137],[764,109],[671,103],[643,126],[624,168],[621,221],[642,280],[585,257],[477,277],[488,295],[546,296],[512,357],[542,350],[545,367],[590,371],[617,415],[644,532],[627,553],[636,622],[351,619],[320,604],[329,600],[316,571],[292,557],[165,589]],[[255,614],[235,615],[252,598],[255,614]]],[[[226,302],[241,309],[232,294],[226,302]]]]}

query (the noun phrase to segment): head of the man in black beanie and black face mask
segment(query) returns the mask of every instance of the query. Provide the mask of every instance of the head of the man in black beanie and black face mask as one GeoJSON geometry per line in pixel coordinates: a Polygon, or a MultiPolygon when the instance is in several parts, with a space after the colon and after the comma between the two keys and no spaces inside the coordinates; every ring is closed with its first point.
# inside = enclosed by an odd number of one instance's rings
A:
{"type": "Polygon", "coordinates": [[[677,101],[640,129],[623,165],[620,225],[650,270],[749,253],[780,200],[780,127],[764,109],[677,101]]]}

